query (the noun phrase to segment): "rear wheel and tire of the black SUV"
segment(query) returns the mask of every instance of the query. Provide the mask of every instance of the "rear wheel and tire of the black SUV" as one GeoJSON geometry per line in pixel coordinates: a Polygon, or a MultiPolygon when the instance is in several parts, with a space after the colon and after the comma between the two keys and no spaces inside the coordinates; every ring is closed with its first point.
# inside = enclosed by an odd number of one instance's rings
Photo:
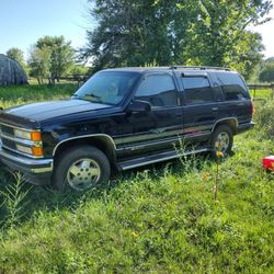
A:
{"type": "Polygon", "coordinates": [[[210,139],[210,149],[214,156],[217,151],[221,151],[224,156],[231,152],[233,146],[232,129],[227,125],[218,126],[210,139]]]}

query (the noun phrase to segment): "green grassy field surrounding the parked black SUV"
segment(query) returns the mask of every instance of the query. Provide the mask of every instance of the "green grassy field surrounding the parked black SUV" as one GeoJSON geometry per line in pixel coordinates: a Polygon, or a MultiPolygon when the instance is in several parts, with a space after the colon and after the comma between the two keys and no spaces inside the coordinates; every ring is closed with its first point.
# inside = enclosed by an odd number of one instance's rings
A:
{"type": "MultiPolygon", "coordinates": [[[[2,106],[69,96],[75,85],[0,89],[2,106]]],[[[263,96],[262,93],[260,96],[263,96]]],[[[58,194],[0,173],[0,273],[274,273],[274,102],[219,163],[207,155],[58,194]]]]}

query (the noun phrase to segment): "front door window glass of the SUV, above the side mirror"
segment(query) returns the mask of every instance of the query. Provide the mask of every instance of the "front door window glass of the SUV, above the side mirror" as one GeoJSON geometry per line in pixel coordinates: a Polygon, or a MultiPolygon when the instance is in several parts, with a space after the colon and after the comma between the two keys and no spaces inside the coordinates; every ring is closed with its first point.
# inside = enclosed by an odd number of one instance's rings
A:
{"type": "Polygon", "coordinates": [[[135,94],[136,100],[149,102],[152,106],[178,105],[176,88],[169,75],[148,76],[135,94]]]}

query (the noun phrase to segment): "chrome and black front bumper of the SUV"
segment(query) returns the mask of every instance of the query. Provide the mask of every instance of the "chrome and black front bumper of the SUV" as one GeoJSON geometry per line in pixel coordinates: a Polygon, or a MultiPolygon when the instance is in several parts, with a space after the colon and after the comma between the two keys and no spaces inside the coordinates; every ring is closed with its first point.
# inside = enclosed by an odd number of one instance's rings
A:
{"type": "Polygon", "coordinates": [[[30,159],[0,147],[0,161],[11,171],[20,171],[33,184],[48,184],[53,172],[53,159],[30,159]]]}

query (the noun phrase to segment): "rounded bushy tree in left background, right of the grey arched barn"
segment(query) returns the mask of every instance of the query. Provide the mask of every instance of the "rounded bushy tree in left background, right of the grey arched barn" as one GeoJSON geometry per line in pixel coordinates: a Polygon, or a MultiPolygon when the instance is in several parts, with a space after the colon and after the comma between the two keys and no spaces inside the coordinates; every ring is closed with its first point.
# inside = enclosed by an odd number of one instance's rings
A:
{"type": "Polygon", "coordinates": [[[47,77],[50,83],[70,69],[73,64],[73,49],[64,36],[44,36],[39,38],[31,52],[32,72],[38,77],[47,77]]]}

